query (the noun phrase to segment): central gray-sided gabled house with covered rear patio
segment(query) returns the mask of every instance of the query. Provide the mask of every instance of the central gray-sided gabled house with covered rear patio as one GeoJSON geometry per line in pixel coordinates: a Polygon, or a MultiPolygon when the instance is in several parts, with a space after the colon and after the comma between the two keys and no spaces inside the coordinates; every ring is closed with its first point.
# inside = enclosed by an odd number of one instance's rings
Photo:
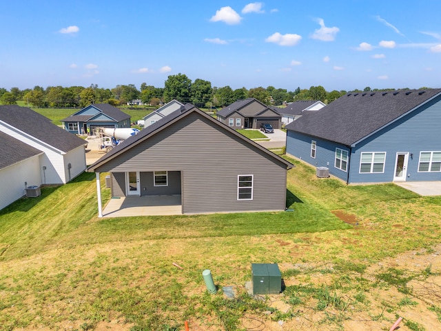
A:
{"type": "MultiPolygon", "coordinates": [[[[112,197],[178,196],[181,212],[285,210],[285,159],[187,103],[92,164],[112,197]],[[214,144],[213,142],[216,141],[214,144]]],[[[99,217],[102,217],[101,193],[99,217]]]]}

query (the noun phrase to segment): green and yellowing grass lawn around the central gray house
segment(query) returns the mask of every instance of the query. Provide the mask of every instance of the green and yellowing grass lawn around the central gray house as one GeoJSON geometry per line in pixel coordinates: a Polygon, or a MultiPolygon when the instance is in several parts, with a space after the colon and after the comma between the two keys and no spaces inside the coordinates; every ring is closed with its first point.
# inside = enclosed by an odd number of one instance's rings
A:
{"type": "MultiPolygon", "coordinates": [[[[411,309],[418,314],[405,315],[407,325],[426,330],[415,316],[436,320],[440,304],[419,301],[407,283],[441,270],[420,260],[420,269],[406,268],[396,257],[433,252],[441,198],[318,179],[314,168],[289,161],[289,212],[99,219],[89,173],[12,203],[0,211],[0,330],[165,331],[184,330],[184,321],[190,330],[252,330],[251,321],[269,330],[278,321],[284,330],[364,330],[347,324],[358,320],[389,330],[411,309]],[[282,297],[246,294],[251,263],[279,264],[282,297]],[[205,269],[218,294],[207,293],[205,269]],[[236,299],[225,299],[223,286],[236,299]]],[[[102,192],[105,203],[110,192],[102,192]]]]}

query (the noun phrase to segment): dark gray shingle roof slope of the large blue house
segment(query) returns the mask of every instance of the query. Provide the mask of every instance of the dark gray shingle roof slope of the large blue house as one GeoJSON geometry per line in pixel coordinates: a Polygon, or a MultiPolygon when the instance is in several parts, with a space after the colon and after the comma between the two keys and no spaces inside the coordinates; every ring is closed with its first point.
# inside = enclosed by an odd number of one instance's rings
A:
{"type": "Polygon", "coordinates": [[[285,129],[351,146],[440,93],[441,89],[348,93],[285,129]]]}

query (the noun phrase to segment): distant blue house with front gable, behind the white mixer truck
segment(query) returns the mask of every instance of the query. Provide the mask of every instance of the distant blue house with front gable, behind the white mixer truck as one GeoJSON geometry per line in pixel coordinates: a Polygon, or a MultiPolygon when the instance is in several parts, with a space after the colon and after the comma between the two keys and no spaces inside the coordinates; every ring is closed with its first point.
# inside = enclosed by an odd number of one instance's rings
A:
{"type": "Polygon", "coordinates": [[[89,105],[62,119],[63,128],[74,134],[94,132],[95,128],[130,128],[130,115],[108,103],[89,105]]]}

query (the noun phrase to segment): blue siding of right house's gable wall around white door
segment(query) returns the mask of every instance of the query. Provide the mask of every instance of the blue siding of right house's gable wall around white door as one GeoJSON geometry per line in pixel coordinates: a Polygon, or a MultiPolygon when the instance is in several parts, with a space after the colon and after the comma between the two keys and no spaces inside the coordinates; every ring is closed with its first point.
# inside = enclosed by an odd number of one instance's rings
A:
{"type": "Polygon", "coordinates": [[[441,151],[441,100],[433,100],[353,148],[351,183],[393,181],[397,152],[408,152],[406,181],[441,181],[441,172],[418,172],[420,152],[441,151]],[[386,152],[384,173],[360,174],[361,152],[386,152]]]}

